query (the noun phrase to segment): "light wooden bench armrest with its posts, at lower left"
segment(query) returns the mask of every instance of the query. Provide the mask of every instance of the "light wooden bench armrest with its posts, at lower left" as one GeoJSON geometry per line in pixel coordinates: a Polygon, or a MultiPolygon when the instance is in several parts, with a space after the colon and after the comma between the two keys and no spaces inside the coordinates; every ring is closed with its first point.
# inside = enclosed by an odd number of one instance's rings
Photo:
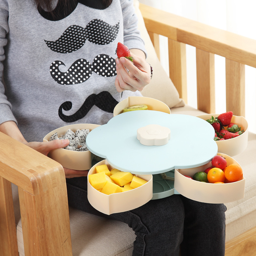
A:
{"type": "MultiPolygon", "coordinates": [[[[26,256],[71,256],[65,174],[47,156],[0,132],[0,241],[18,255],[11,183],[18,186],[26,256]]],[[[1,251],[0,251],[1,252],[1,251]]]]}

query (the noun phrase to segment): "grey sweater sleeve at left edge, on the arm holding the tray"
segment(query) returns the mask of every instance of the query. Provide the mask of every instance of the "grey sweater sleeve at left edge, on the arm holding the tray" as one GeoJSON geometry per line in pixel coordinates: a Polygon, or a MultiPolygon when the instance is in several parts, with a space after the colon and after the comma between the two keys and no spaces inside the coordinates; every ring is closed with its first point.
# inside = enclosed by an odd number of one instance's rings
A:
{"type": "Polygon", "coordinates": [[[11,103],[4,94],[3,61],[5,59],[4,46],[7,44],[6,34],[8,32],[8,4],[3,0],[0,2],[0,124],[6,121],[14,121],[17,123],[11,111],[11,103]]]}

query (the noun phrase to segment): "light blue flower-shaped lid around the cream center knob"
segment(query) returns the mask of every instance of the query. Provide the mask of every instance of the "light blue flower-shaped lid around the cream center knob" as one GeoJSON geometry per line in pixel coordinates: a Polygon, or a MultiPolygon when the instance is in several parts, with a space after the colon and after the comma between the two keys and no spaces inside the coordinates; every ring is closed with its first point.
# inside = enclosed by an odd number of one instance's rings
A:
{"type": "Polygon", "coordinates": [[[125,112],[93,129],[87,148],[113,167],[134,174],[157,174],[209,163],[218,152],[215,131],[205,120],[154,110],[125,112]],[[171,130],[163,146],[145,146],[137,139],[140,127],[158,124],[171,130]]]}

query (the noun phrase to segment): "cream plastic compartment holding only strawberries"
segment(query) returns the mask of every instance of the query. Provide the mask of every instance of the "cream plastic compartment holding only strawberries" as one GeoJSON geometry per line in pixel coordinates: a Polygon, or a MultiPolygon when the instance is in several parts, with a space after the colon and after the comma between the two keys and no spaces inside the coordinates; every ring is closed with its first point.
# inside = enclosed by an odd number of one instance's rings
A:
{"type": "MultiPolygon", "coordinates": [[[[219,116],[219,114],[206,114],[197,116],[201,119],[207,120],[213,117],[219,116]]],[[[218,152],[227,154],[228,156],[236,156],[242,153],[247,147],[248,143],[248,123],[243,116],[232,116],[232,123],[238,124],[241,127],[241,130],[244,130],[244,133],[241,135],[228,139],[228,140],[217,140],[218,152]]]]}

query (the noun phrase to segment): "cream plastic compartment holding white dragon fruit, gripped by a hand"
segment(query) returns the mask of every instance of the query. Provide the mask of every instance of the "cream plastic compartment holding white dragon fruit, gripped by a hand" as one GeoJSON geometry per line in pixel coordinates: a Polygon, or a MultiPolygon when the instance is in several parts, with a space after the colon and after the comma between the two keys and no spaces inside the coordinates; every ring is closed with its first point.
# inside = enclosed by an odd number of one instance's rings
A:
{"type": "MultiPolygon", "coordinates": [[[[43,141],[49,141],[52,134],[58,133],[58,137],[65,134],[68,129],[76,132],[78,129],[89,129],[92,131],[94,128],[98,127],[98,124],[71,124],[62,126],[58,129],[49,132],[45,135],[43,141]]],[[[92,167],[93,154],[87,151],[72,151],[64,148],[53,149],[49,152],[48,156],[60,163],[63,167],[73,170],[89,170],[92,167]]]]}

